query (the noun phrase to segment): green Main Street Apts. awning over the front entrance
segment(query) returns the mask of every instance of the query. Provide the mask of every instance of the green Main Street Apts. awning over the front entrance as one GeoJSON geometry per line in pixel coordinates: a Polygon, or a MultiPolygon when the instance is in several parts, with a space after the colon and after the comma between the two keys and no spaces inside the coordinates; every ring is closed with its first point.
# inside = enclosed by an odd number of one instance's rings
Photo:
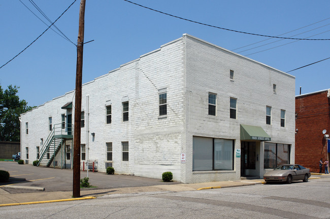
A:
{"type": "Polygon", "coordinates": [[[241,124],[241,140],[271,141],[272,138],[259,126],[241,124]]]}

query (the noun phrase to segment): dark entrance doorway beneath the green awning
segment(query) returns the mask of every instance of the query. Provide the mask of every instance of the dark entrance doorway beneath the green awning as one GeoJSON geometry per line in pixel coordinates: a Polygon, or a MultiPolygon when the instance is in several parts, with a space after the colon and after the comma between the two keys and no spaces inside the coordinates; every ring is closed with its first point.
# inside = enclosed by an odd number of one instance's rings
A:
{"type": "Polygon", "coordinates": [[[248,170],[255,170],[256,143],[241,142],[241,176],[250,176],[248,170]]]}

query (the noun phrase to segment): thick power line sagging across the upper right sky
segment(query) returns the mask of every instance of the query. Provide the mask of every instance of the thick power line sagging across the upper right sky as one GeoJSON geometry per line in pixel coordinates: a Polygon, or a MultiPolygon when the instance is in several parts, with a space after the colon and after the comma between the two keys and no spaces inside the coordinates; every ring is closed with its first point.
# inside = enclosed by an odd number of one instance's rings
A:
{"type": "Polygon", "coordinates": [[[236,32],[236,33],[241,33],[241,34],[248,34],[248,35],[260,36],[260,37],[271,37],[271,38],[279,38],[279,39],[288,39],[288,40],[330,40],[330,39],[288,38],[288,37],[276,37],[276,36],[269,36],[269,35],[262,35],[262,34],[253,34],[253,33],[243,32],[243,31],[234,30],[234,29],[228,29],[228,28],[224,28],[224,27],[219,27],[219,26],[214,26],[214,25],[210,25],[210,24],[206,24],[206,23],[202,23],[202,22],[198,22],[198,21],[189,20],[189,19],[186,19],[186,18],[182,18],[182,17],[179,17],[179,16],[175,16],[175,15],[172,15],[172,14],[161,12],[161,11],[158,11],[158,10],[155,10],[155,9],[152,9],[152,8],[148,8],[146,6],[139,5],[139,4],[134,3],[134,2],[130,2],[128,0],[123,0],[123,1],[128,2],[128,3],[131,3],[131,4],[134,4],[134,5],[137,5],[137,6],[140,6],[142,8],[149,9],[151,11],[155,11],[155,12],[164,14],[164,15],[169,15],[171,17],[175,17],[175,18],[179,18],[179,19],[182,19],[182,20],[186,20],[186,21],[189,21],[189,22],[192,22],[192,23],[202,24],[202,25],[205,25],[205,26],[210,26],[210,27],[214,27],[214,28],[218,28],[218,29],[224,29],[224,30],[228,30],[228,31],[236,32]]]}

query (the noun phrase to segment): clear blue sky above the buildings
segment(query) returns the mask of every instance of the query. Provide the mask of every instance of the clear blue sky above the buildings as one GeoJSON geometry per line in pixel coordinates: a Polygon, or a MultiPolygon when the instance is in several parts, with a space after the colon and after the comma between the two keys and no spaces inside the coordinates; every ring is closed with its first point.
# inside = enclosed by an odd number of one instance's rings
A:
{"type": "MultiPolygon", "coordinates": [[[[34,0],[52,21],[73,1],[34,0]]],[[[315,35],[311,38],[330,39],[330,1],[326,0],[131,1],[186,19],[261,35],[278,36],[309,25],[281,37],[296,35],[294,38],[307,38],[315,35]]],[[[46,22],[28,0],[21,2],[46,22]]],[[[21,2],[0,0],[0,66],[47,28],[21,2]]],[[[78,36],[79,4],[80,0],[77,0],[55,23],[74,43],[78,36]]],[[[191,23],[123,0],[86,0],[84,42],[94,41],[84,45],[83,83],[107,74],[185,33],[284,72],[330,57],[330,41],[278,41],[191,23]],[[262,40],[267,41],[247,46],[262,40]],[[243,46],[247,47],[237,49],[243,46]],[[251,49],[257,46],[260,47],[251,49]],[[250,50],[243,51],[246,49],[250,50]]],[[[76,47],[49,29],[0,69],[0,85],[2,88],[10,84],[19,86],[20,99],[26,100],[29,106],[38,106],[75,89],[76,61],[76,47]]],[[[300,86],[302,93],[330,88],[329,66],[330,59],[327,59],[290,72],[296,77],[296,95],[299,95],[300,86]]]]}

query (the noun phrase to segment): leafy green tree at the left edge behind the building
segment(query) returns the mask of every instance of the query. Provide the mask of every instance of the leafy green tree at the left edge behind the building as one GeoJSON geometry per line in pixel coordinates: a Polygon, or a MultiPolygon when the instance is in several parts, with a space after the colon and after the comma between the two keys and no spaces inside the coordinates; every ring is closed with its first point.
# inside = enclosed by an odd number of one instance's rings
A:
{"type": "Polygon", "coordinates": [[[9,85],[4,91],[0,85],[0,141],[20,141],[20,114],[32,109],[19,100],[18,88],[9,85]]]}

